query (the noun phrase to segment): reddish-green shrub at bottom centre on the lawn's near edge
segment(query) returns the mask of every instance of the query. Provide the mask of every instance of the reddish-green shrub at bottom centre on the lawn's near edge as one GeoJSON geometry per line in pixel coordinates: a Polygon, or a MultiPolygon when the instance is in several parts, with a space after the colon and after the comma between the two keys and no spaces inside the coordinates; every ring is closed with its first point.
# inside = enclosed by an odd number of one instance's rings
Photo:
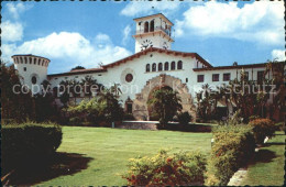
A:
{"type": "Polygon", "coordinates": [[[168,154],[161,151],[153,157],[131,158],[129,172],[122,177],[128,185],[190,185],[204,184],[206,157],[200,153],[168,154]]]}

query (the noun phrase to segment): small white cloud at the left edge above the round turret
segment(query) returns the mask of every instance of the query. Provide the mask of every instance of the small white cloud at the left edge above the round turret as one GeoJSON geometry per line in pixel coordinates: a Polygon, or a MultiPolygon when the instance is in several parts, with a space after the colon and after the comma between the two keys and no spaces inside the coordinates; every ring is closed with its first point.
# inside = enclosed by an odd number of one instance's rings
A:
{"type": "Polygon", "coordinates": [[[1,25],[1,38],[3,42],[16,42],[23,37],[23,26],[19,22],[4,21],[1,25]]]}

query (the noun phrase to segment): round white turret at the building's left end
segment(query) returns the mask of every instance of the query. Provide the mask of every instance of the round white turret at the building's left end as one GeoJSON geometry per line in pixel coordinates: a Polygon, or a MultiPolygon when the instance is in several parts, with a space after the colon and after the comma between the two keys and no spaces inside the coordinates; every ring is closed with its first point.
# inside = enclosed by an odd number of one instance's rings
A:
{"type": "Polygon", "coordinates": [[[47,79],[47,66],[51,61],[32,54],[13,55],[12,58],[19,75],[23,78],[22,84],[33,94],[38,92],[41,84],[47,79]]]}

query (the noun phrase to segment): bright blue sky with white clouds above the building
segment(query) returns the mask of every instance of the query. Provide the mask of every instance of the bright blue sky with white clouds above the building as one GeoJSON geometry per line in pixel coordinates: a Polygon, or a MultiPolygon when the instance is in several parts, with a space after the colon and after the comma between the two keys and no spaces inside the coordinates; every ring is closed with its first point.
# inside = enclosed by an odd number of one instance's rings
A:
{"type": "Polygon", "coordinates": [[[133,19],[165,14],[172,50],[198,53],[212,66],[285,59],[284,1],[1,2],[1,58],[51,59],[48,74],[98,67],[134,54],[133,19]]]}

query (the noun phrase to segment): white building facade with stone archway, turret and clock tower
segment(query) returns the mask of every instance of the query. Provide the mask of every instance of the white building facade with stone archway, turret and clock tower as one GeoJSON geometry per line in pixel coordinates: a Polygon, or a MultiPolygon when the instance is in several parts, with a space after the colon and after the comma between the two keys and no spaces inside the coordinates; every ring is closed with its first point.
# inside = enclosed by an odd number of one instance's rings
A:
{"type": "MultiPolygon", "coordinates": [[[[120,99],[124,109],[136,120],[150,120],[151,111],[146,102],[152,92],[161,87],[176,90],[182,98],[183,111],[196,117],[195,97],[202,85],[215,88],[228,84],[231,79],[240,78],[242,69],[251,80],[260,80],[263,76],[265,64],[213,67],[197,53],[173,51],[174,24],[161,13],[134,21],[135,53],[100,68],[47,75],[50,59],[34,55],[14,55],[14,65],[29,86],[40,85],[47,79],[54,88],[62,80],[81,80],[86,76],[94,77],[106,87],[120,84],[120,99]]],[[[268,76],[271,78],[272,75],[268,76]]],[[[77,101],[84,98],[85,95],[81,95],[77,101]]],[[[229,110],[231,113],[232,109],[229,110]]]]}

